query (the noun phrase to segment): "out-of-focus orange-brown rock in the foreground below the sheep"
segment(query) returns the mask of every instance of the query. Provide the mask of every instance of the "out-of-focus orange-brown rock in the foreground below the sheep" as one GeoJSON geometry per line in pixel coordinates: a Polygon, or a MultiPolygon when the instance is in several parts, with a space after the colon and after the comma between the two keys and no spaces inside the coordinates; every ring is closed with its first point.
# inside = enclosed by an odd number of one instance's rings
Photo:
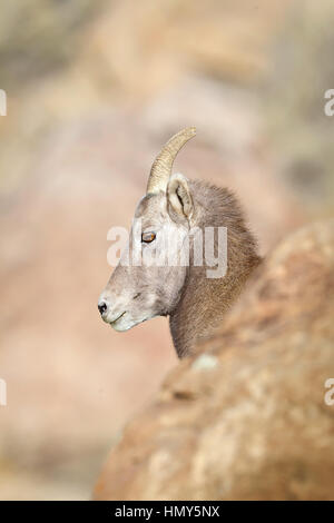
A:
{"type": "Polygon", "coordinates": [[[127,427],[95,499],[334,499],[333,312],[330,220],[267,257],[225,324],[127,427]]]}

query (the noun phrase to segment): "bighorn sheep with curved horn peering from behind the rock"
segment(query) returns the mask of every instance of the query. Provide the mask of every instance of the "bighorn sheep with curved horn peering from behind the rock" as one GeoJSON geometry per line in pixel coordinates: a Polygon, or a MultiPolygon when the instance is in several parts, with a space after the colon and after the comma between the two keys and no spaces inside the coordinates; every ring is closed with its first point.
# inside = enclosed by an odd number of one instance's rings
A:
{"type": "MultiPolygon", "coordinates": [[[[175,135],[154,161],[147,191],[137,206],[131,229],[134,233],[140,223],[143,234],[139,237],[131,234],[127,249],[130,255],[137,249],[140,263],[125,264],[121,258],[98,303],[102,319],[116,330],[127,330],[155,316],[169,316],[179,357],[191,354],[196,342],[219,323],[261,262],[240,207],[226,188],[171,174],[176,155],[195,134],[191,127],[175,135]],[[224,276],[207,277],[206,260],[202,265],[194,263],[194,243],[188,250],[188,264],[155,266],[149,262],[147,255],[154,249],[161,250],[161,239],[166,238],[167,231],[169,238],[181,238],[180,253],[190,235],[198,238],[206,228],[227,230],[224,276]]],[[[215,237],[215,250],[217,241],[215,237]]],[[[217,264],[219,262],[217,259],[217,264]]]]}

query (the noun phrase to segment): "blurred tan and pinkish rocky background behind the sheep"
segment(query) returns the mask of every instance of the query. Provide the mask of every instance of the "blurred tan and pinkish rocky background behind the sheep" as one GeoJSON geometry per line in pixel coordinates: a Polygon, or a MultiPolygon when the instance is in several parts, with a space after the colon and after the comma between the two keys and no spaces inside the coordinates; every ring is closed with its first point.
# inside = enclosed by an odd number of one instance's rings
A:
{"type": "Polygon", "coordinates": [[[333,23],[331,0],[1,7],[0,499],[90,497],[178,365],[166,319],[97,312],[107,231],[170,135],[196,125],[176,169],[233,188],[263,254],[333,214],[333,23]]]}

